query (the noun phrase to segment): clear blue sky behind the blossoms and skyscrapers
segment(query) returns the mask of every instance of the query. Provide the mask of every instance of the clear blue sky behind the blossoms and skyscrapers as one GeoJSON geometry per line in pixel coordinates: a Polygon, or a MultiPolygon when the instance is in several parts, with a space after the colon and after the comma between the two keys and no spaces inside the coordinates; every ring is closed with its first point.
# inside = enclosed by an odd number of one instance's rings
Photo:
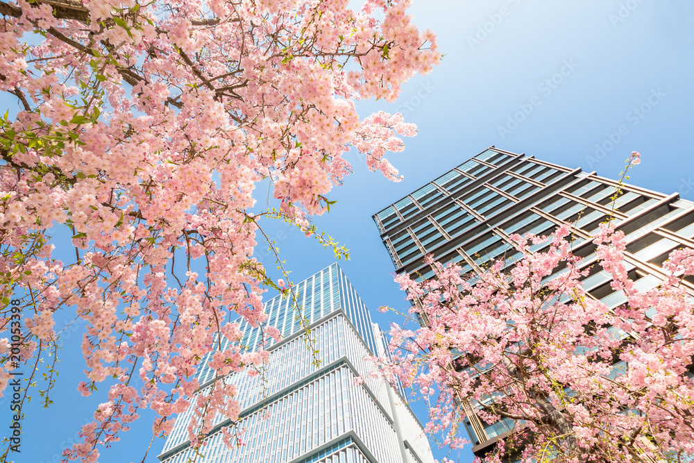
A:
{"type": "MultiPolygon", "coordinates": [[[[341,266],[382,326],[396,317],[378,313],[378,306],[407,303],[371,215],[490,145],[612,178],[631,151],[641,151],[629,183],[694,200],[690,0],[414,0],[410,12],[439,36],[443,62],[407,83],[397,103],[359,103],[362,117],[400,111],[418,125],[405,152],[389,156],[405,179],[391,183],[350,154],[354,174],[333,190],[335,208],[315,221],[350,249],[341,266]]],[[[261,204],[263,195],[259,190],[261,204]]],[[[294,281],[334,261],[301,233],[281,224],[268,230],[294,281]]],[[[264,262],[273,269],[272,260],[264,262]]],[[[19,462],[57,462],[106,400],[106,388],[89,399],[76,393],[80,337],[76,332],[65,344],[56,404],[25,410],[19,462]]],[[[9,419],[6,402],[0,417],[9,419]]],[[[151,438],[144,421],[102,451],[100,461],[141,461],[151,438]]],[[[146,462],[158,461],[163,444],[154,442],[146,462]]],[[[434,455],[447,453],[434,444],[434,455]]],[[[448,456],[471,460],[468,449],[448,456]]]]}

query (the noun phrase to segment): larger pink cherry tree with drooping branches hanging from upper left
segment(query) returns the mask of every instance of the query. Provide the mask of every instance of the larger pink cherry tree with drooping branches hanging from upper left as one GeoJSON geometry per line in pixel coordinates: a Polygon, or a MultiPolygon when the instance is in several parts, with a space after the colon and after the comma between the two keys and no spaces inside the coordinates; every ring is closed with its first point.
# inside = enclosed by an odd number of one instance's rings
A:
{"type": "MultiPolygon", "coordinates": [[[[0,0],[0,90],[17,102],[0,120],[0,326],[13,333],[0,339],[0,390],[17,361],[55,362],[58,311],[76,310],[79,389],[112,384],[68,460],[96,461],[148,407],[166,435],[212,350],[216,378],[262,367],[266,351],[244,353],[230,320],[264,325],[261,295],[278,289],[253,257],[272,246],[264,224],[344,254],[310,217],[349,174],[346,151],[399,179],[384,154],[416,128],[384,112],[362,120],[355,101],[393,101],[441,54],[409,0],[348,3],[0,0]],[[276,207],[256,207],[259,183],[276,207]],[[61,262],[51,230],[66,226],[74,259],[61,262]]],[[[46,405],[55,380],[37,383],[46,405]]],[[[238,418],[221,382],[197,405],[194,445],[214,414],[238,418]]]]}

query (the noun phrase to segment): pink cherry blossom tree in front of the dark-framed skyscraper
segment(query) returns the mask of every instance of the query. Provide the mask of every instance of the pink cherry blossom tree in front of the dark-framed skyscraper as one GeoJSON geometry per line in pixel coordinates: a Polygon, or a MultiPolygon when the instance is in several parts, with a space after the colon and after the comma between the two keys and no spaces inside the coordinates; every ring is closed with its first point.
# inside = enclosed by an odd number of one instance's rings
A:
{"type": "Polygon", "coordinates": [[[427,430],[451,448],[467,443],[473,408],[485,423],[505,420],[511,432],[486,462],[691,461],[694,304],[681,283],[694,275],[694,250],[672,251],[667,278],[640,291],[623,238],[611,223],[593,238],[598,269],[627,297],[615,310],[582,287],[591,268],[571,252],[570,224],[550,237],[512,235],[523,255],[512,265],[464,275],[430,258],[430,280],[396,277],[410,317],[424,322],[392,326],[382,373],[430,397],[427,430]],[[541,242],[546,251],[529,251],[541,242]]]}

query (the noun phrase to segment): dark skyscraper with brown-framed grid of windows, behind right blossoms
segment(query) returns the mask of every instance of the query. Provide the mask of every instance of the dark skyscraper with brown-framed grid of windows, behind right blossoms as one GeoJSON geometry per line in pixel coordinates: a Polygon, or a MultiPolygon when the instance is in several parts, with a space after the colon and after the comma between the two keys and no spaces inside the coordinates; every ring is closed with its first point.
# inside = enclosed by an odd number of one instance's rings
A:
{"type": "MultiPolygon", "coordinates": [[[[634,185],[491,147],[373,216],[397,273],[431,278],[424,256],[458,262],[465,272],[479,271],[491,259],[504,258],[509,269],[520,257],[509,235],[549,235],[573,222],[573,252],[585,267],[595,263],[590,237],[613,217],[626,235],[626,261],[636,288],[656,287],[661,264],[673,249],[694,248],[694,203],[634,185]],[[618,191],[620,190],[620,191],[618,191]],[[613,201],[617,196],[616,201],[613,201]]],[[[542,251],[549,244],[535,244],[542,251]]],[[[594,266],[583,280],[595,298],[616,308],[626,298],[609,285],[611,277],[594,266]]],[[[683,282],[694,294],[694,280],[683,282]]],[[[647,312],[648,314],[648,312],[647,312]]],[[[624,367],[623,362],[615,368],[624,367]]],[[[691,370],[694,373],[694,370],[691,370]]],[[[509,419],[491,425],[468,410],[466,430],[473,452],[485,455],[511,432],[509,419]]]]}

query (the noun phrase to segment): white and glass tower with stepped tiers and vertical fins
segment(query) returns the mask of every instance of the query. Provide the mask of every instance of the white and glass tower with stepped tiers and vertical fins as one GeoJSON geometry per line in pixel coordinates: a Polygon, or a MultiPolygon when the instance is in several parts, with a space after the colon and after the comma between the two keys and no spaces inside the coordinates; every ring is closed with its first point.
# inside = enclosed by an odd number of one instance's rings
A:
{"type": "MultiPolygon", "coordinates": [[[[305,345],[305,329],[294,299],[266,301],[267,324],[282,333],[269,347],[266,382],[245,372],[225,381],[237,385],[245,445],[228,448],[215,419],[201,449],[202,463],[433,463],[421,423],[400,393],[369,377],[367,355],[382,355],[384,341],[369,311],[337,264],[295,285],[296,301],[310,323],[319,366],[305,345]],[[355,385],[357,376],[364,383],[355,385]],[[263,408],[264,407],[264,408],[263,408]],[[269,412],[269,418],[264,414],[269,412]]],[[[239,320],[242,345],[257,346],[260,329],[239,320]]],[[[228,341],[223,341],[227,342],[228,341]]],[[[227,344],[228,345],[228,344],[227,344]]],[[[205,357],[198,371],[199,390],[212,383],[214,371],[205,357]]],[[[187,437],[193,409],[178,416],[159,459],[186,463],[194,456],[187,437]]]]}

